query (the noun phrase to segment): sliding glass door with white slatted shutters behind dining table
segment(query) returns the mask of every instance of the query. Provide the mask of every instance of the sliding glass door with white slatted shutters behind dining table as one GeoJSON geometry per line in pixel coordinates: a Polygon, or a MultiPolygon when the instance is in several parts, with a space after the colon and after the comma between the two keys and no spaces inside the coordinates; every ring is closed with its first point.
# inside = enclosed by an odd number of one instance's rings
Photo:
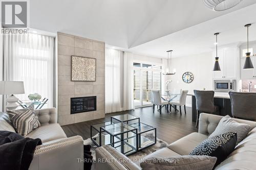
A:
{"type": "Polygon", "coordinates": [[[161,66],[134,63],[134,107],[152,105],[152,89],[161,90],[161,66]]]}

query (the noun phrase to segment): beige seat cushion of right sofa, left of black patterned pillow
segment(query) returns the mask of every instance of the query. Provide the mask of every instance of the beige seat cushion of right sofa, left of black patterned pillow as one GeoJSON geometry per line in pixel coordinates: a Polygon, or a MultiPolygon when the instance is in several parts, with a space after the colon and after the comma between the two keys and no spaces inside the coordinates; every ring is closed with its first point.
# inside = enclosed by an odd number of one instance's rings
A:
{"type": "Polygon", "coordinates": [[[194,132],[176,140],[167,147],[180,155],[188,155],[199,143],[207,138],[207,135],[194,132]]]}

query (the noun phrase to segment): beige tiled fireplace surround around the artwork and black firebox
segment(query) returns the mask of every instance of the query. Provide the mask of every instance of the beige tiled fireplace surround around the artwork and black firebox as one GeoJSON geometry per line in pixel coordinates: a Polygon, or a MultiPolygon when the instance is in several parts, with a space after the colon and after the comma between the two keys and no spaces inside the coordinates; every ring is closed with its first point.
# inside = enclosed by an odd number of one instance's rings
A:
{"type": "Polygon", "coordinates": [[[105,43],[58,33],[58,122],[74,124],[105,116],[105,43]],[[71,56],[96,58],[96,82],[71,81],[71,56]],[[70,113],[70,98],[97,96],[97,110],[70,113]]]}

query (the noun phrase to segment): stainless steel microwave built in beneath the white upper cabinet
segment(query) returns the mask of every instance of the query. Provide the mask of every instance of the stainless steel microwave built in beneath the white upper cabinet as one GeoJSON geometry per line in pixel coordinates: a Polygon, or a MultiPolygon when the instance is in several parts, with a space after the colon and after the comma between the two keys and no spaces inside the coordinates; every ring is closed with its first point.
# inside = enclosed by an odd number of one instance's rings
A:
{"type": "Polygon", "coordinates": [[[236,80],[214,80],[214,91],[228,92],[236,90],[236,80]]]}

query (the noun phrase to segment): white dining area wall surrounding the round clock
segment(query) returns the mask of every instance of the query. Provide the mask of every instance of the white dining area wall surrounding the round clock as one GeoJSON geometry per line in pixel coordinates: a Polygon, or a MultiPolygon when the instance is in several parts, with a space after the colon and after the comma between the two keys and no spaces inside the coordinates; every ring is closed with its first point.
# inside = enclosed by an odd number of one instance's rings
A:
{"type": "MultiPolygon", "coordinates": [[[[168,89],[181,88],[193,93],[193,90],[212,90],[212,68],[214,66],[212,53],[203,53],[186,57],[172,58],[172,70],[176,69],[176,74],[168,76],[173,80],[169,84],[168,89]],[[190,71],[194,75],[194,81],[184,83],[182,75],[184,72],[190,71]]],[[[187,96],[186,106],[191,106],[191,97],[187,96]]]]}

